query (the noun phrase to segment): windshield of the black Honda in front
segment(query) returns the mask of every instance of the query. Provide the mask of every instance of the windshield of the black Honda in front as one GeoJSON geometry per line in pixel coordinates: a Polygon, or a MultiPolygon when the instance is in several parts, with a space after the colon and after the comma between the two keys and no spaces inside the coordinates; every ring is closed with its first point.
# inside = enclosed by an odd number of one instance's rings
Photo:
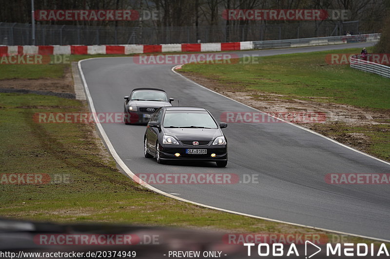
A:
{"type": "Polygon", "coordinates": [[[217,129],[214,119],[207,111],[166,111],[165,128],[217,129]]]}

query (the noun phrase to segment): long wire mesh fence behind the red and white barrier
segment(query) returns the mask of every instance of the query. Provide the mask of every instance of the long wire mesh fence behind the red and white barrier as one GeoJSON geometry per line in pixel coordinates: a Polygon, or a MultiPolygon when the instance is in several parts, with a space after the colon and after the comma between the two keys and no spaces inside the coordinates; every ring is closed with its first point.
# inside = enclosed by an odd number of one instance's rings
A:
{"type": "MultiPolygon", "coordinates": [[[[359,33],[359,21],[304,21],[187,27],[106,27],[36,24],[35,45],[117,45],[237,42],[359,33]]],[[[361,32],[360,32],[361,33],[361,32]]],[[[31,45],[31,24],[0,22],[0,44],[31,45]]]]}

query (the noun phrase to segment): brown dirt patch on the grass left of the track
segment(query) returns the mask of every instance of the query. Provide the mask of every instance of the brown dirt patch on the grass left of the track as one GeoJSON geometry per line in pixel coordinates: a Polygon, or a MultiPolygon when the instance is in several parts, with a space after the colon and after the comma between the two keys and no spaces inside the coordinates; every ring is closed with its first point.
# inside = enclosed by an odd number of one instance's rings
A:
{"type": "Polygon", "coordinates": [[[64,70],[63,78],[4,79],[0,80],[0,88],[42,92],[75,93],[73,89],[73,79],[70,67],[64,70]]]}

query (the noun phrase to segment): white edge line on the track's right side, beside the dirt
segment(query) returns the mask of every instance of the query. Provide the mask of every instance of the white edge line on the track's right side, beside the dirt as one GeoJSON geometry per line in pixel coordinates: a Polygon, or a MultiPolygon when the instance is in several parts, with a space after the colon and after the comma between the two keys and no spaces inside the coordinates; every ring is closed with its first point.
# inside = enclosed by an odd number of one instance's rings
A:
{"type": "MultiPolygon", "coordinates": [[[[191,80],[191,79],[185,77],[184,75],[182,75],[182,74],[180,74],[180,73],[177,73],[177,72],[175,71],[175,69],[176,69],[176,67],[180,67],[180,66],[183,66],[183,64],[177,65],[177,66],[173,67],[171,70],[172,70],[175,74],[180,75],[181,77],[185,78],[186,80],[188,80],[188,81],[194,83],[195,85],[197,85],[197,86],[199,86],[199,87],[201,87],[201,88],[207,89],[207,90],[209,90],[209,91],[211,91],[211,92],[214,92],[214,93],[216,93],[216,94],[218,94],[218,95],[221,95],[221,96],[223,96],[223,97],[225,97],[225,98],[228,98],[228,99],[230,99],[230,100],[232,100],[232,101],[234,101],[234,102],[237,102],[237,103],[239,103],[239,104],[242,104],[242,105],[244,105],[244,106],[246,106],[246,107],[248,107],[248,108],[251,108],[251,109],[253,109],[253,110],[255,110],[255,111],[260,111],[260,110],[258,110],[258,109],[256,109],[256,108],[253,108],[253,107],[251,107],[251,106],[249,106],[249,105],[246,105],[246,104],[241,103],[241,102],[239,102],[239,101],[237,101],[237,100],[234,100],[234,99],[232,99],[232,98],[230,98],[230,97],[228,97],[228,96],[225,96],[225,95],[223,95],[223,94],[221,94],[221,93],[219,93],[219,92],[215,92],[215,91],[213,91],[213,90],[211,90],[211,89],[209,89],[209,88],[207,88],[207,87],[204,87],[204,86],[202,86],[202,85],[196,83],[195,81],[193,81],[193,80],[191,80]]],[[[264,111],[260,111],[260,112],[268,114],[267,112],[264,112],[264,111]]],[[[378,160],[378,161],[380,161],[380,162],[382,162],[382,163],[385,163],[385,164],[387,164],[387,165],[390,165],[390,163],[387,162],[387,161],[384,161],[384,160],[382,160],[382,159],[380,159],[380,158],[371,156],[371,155],[369,155],[369,154],[367,154],[367,153],[365,153],[365,152],[362,152],[362,151],[360,151],[360,150],[357,150],[357,149],[348,147],[348,146],[346,146],[346,145],[344,145],[344,144],[342,144],[342,143],[340,143],[340,142],[337,142],[337,141],[335,141],[335,140],[333,140],[333,139],[331,139],[331,138],[328,138],[328,137],[326,137],[326,136],[324,136],[324,135],[321,135],[320,133],[315,132],[315,131],[313,131],[313,130],[311,130],[311,129],[307,129],[307,128],[302,127],[302,126],[300,126],[300,125],[291,123],[291,122],[289,122],[289,121],[285,121],[285,120],[283,120],[283,119],[281,119],[281,118],[278,118],[278,117],[275,117],[275,116],[273,116],[273,115],[271,115],[271,114],[268,114],[268,115],[271,116],[271,117],[273,117],[273,118],[275,118],[275,119],[278,119],[278,120],[281,120],[281,121],[283,121],[283,122],[285,122],[285,123],[288,123],[288,124],[290,124],[290,125],[292,125],[292,126],[295,126],[295,127],[299,128],[299,129],[304,129],[304,130],[306,130],[306,131],[309,131],[309,132],[312,133],[312,134],[315,134],[315,135],[317,135],[317,136],[320,136],[320,137],[323,137],[323,138],[325,138],[325,139],[327,139],[327,140],[330,140],[331,142],[336,143],[336,144],[338,144],[338,145],[340,145],[340,146],[343,146],[344,148],[351,149],[351,150],[353,150],[353,151],[355,151],[355,152],[357,152],[357,153],[359,153],[359,154],[368,156],[368,157],[373,158],[373,159],[375,159],[375,160],[378,160]]]]}

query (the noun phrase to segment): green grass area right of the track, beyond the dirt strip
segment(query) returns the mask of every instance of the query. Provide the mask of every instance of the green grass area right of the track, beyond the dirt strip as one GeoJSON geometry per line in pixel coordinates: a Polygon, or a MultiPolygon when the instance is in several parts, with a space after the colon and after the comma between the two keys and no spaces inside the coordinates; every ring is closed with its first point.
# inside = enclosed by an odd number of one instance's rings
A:
{"type": "Polygon", "coordinates": [[[326,55],[335,53],[360,53],[360,49],[264,56],[258,64],[187,64],[181,72],[200,74],[237,89],[328,97],[326,100],[334,103],[390,109],[390,79],[349,65],[328,64],[326,55]]]}

